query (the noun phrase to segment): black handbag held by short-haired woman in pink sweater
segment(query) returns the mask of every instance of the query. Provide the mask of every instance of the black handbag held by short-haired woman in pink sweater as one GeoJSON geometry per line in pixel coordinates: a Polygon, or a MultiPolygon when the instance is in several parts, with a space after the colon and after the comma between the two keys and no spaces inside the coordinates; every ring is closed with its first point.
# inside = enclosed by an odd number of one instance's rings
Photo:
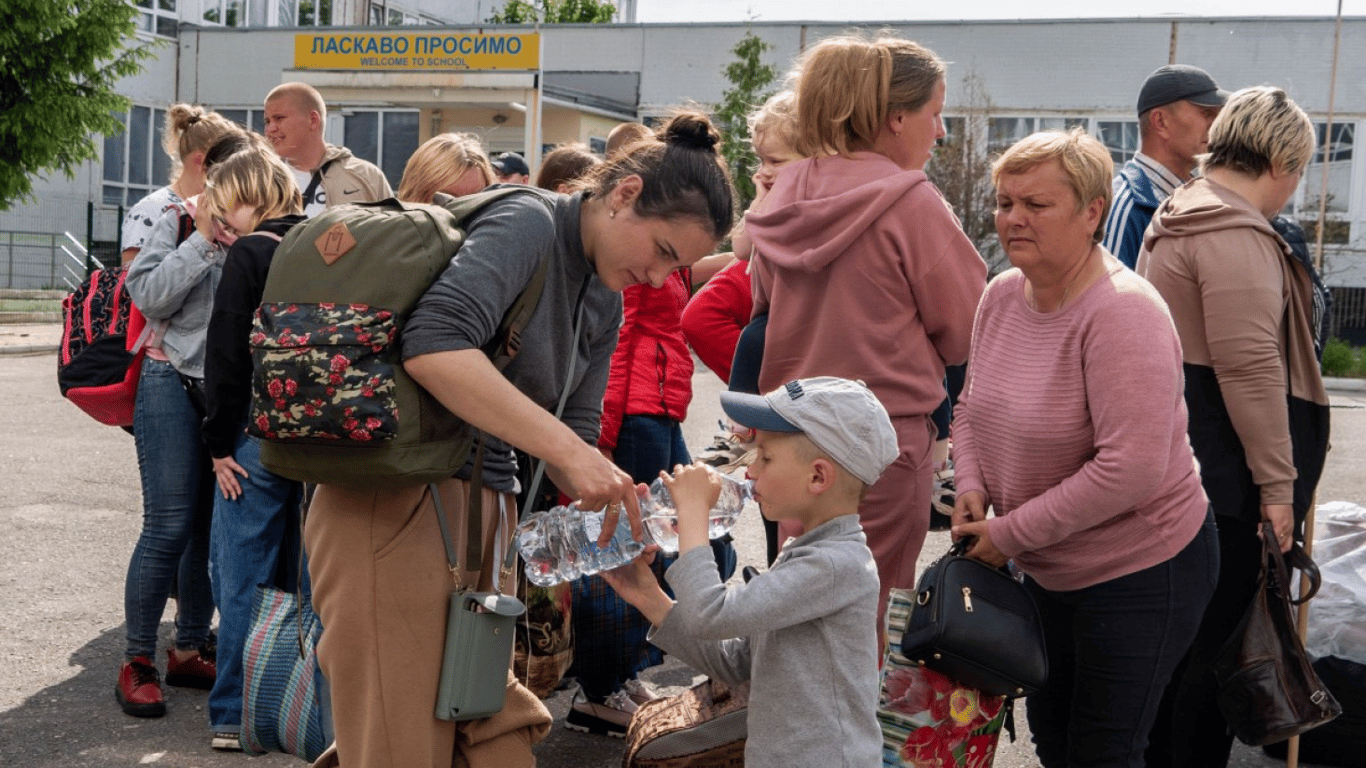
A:
{"type": "Polygon", "coordinates": [[[989,696],[1029,696],[1048,679],[1038,608],[1009,573],[966,558],[970,543],[921,574],[902,655],[989,696]]]}

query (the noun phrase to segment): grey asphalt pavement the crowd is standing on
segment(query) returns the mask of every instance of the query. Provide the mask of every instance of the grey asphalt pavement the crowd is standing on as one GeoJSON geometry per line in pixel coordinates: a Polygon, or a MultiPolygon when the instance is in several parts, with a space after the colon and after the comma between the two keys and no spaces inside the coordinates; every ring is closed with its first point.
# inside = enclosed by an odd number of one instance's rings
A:
{"type": "MultiPolygon", "coordinates": [[[[53,353],[59,338],[55,325],[0,325],[0,391],[5,394],[0,404],[5,425],[0,430],[0,767],[302,765],[283,754],[249,758],[210,750],[204,691],[168,687],[168,713],[153,720],[128,717],[115,702],[124,571],[141,523],[137,456],[131,436],[97,424],[59,395],[53,353]]],[[[716,429],[720,391],[716,377],[699,366],[684,424],[694,450],[705,447],[716,429]]],[[[1366,391],[1335,391],[1332,399],[1333,451],[1320,500],[1366,503],[1366,391]]],[[[762,566],[759,521],[743,518],[736,540],[740,563],[762,566]]],[[[921,564],[947,548],[947,534],[930,534],[921,564]]],[[[163,646],[171,640],[171,609],[161,626],[163,646]]],[[[645,676],[664,693],[699,679],[673,660],[645,676]]],[[[620,765],[620,741],[563,727],[568,704],[568,691],[548,701],[556,724],[537,748],[540,764],[620,765]]],[[[1016,715],[1020,738],[1001,741],[996,760],[1001,768],[1037,764],[1023,707],[1016,715]]],[[[1240,768],[1279,764],[1242,745],[1235,746],[1231,763],[1240,768]]]]}

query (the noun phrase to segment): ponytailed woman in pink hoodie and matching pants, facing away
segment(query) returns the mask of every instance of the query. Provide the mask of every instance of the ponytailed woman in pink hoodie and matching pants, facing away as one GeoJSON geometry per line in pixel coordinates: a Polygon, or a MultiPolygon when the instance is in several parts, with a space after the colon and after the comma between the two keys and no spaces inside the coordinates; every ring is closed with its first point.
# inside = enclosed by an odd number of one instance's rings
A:
{"type": "MultiPolygon", "coordinates": [[[[944,135],[944,61],[895,37],[836,37],[799,64],[799,148],[754,241],[754,314],[769,324],[759,391],[809,376],[862,380],[902,448],[859,507],[881,579],[914,586],[929,529],[930,414],[944,366],[967,359],[986,265],[925,176],[944,135]]],[[[783,529],[781,537],[799,532],[783,529]]]]}

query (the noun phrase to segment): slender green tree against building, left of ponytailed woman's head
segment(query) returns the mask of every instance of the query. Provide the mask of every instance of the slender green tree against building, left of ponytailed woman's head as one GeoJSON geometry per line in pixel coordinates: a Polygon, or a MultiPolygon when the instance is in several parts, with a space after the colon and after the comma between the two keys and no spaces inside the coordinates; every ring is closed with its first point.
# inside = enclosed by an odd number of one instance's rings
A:
{"type": "Polygon", "coordinates": [[[749,113],[764,104],[773,90],[769,87],[777,79],[777,67],[765,64],[762,56],[773,46],[753,31],[731,48],[735,60],[725,66],[725,79],[731,87],[721,92],[721,102],[716,107],[716,122],[721,130],[721,154],[731,167],[735,179],[738,210],[744,210],[754,200],[754,171],[758,157],[750,146],[749,113]]]}

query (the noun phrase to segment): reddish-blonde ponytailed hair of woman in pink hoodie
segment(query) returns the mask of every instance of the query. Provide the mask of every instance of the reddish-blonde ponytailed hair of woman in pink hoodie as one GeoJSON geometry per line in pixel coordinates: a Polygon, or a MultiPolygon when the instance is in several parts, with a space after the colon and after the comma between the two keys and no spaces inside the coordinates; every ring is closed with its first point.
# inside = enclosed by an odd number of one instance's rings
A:
{"type": "Polygon", "coordinates": [[[923,107],[947,70],[929,48],[887,31],[822,40],[795,74],[800,141],[794,149],[813,157],[872,148],[887,116],[923,107]]]}

